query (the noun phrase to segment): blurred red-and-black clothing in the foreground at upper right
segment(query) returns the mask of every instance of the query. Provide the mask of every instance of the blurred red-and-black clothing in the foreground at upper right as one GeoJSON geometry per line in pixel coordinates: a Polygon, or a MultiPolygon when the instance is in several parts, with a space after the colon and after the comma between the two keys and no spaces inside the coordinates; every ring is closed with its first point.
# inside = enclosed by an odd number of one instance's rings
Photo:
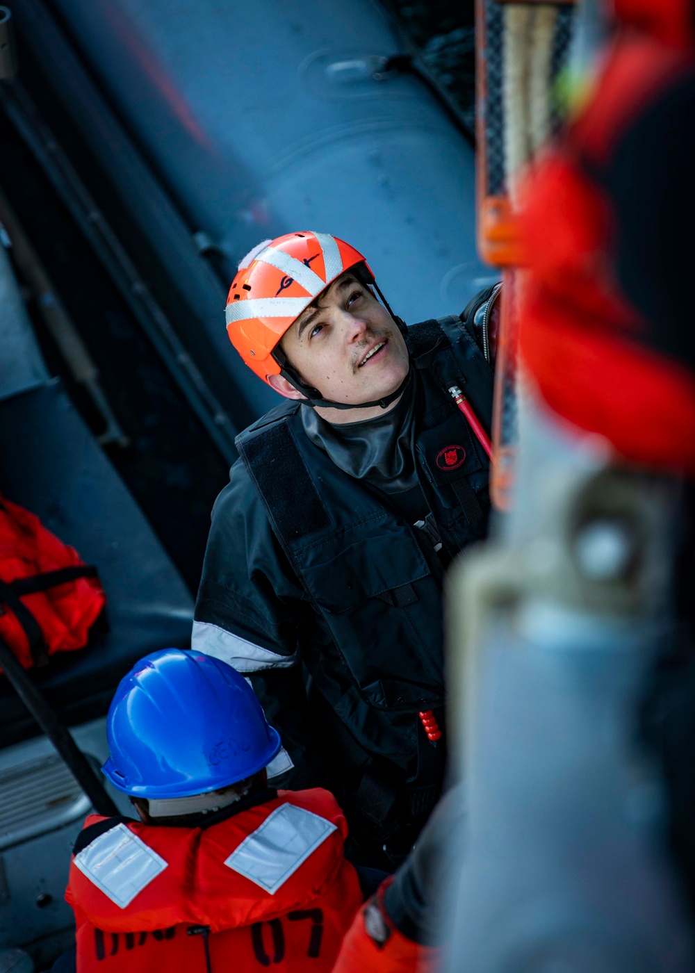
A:
{"type": "Polygon", "coordinates": [[[631,28],[526,188],[520,315],[521,355],[551,409],[634,462],[689,475],[692,6],[616,2],[631,28]]]}

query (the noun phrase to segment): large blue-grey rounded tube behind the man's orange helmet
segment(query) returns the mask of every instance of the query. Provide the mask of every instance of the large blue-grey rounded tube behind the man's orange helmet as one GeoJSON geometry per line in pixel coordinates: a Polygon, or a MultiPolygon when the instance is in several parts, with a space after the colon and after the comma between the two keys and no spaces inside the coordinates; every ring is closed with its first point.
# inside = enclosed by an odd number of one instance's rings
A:
{"type": "MultiPolygon", "coordinates": [[[[33,4],[24,0],[27,10],[33,4]]],[[[472,146],[418,77],[384,72],[384,58],[403,44],[377,4],[56,0],[55,7],[190,228],[204,234],[199,244],[224,254],[230,281],[252,246],[293,230],[336,234],[365,253],[409,322],[457,312],[493,280],[475,250],[472,146]]],[[[95,126],[86,133],[144,233],[159,234],[154,243],[172,279],[193,294],[144,188],[138,198],[137,181],[119,174],[95,126]]],[[[194,302],[260,414],[274,397],[239,375],[223,303],[221,284],[194,302]]]]}

